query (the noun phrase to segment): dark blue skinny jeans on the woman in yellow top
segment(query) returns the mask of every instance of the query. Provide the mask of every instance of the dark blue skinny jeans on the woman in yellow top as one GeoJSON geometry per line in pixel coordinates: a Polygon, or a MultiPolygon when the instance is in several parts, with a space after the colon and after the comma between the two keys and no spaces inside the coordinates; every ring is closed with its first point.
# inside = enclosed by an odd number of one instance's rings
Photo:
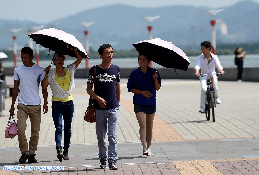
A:
{"type": "MultiPolygon", "coordinates": [[[[62,137],[62,118],[64,118],[64,148],[69,148],[71,137],[71,123],[74,113],[73,100],[68,102],[52,101],[51,104],[52,118],[56,128],[55,141],[56,146],[61,146],[62,137]]],[[[64,149],[63,148],[63,149],[64,149]]]]}

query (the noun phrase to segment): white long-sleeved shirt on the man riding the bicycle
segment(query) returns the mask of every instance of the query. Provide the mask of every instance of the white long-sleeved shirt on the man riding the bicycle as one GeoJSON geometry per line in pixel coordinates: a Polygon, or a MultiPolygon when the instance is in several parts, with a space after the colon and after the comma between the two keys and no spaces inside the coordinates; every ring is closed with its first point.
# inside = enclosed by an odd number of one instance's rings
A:
{"type": "MultiPolygon", "coordinates": [[[[205,55],[202,53],[197,57],[196,66],[194,68],[200,70],[202,74],[214,74],[216,73],[215,67],[218,68],[218,71],[222,70],[223,67],[220,64],[220,61],[218,59],[217,55],[214,55],[213,53],[210,53],[210,61],[205,57],[205,55]]],[[[217,77],[217,75],[213,75],[214,78],[217,77]]],[[[207,76],[200,76],[200,79],[206,79],[207,76]]]]}

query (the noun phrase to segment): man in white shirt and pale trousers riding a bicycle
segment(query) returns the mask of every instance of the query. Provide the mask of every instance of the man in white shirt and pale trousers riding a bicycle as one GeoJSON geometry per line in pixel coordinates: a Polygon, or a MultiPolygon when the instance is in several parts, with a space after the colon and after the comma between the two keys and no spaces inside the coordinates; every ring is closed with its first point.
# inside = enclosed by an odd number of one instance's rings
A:
{"type": "MultiPolygon", "coordinates": [[[[210,52],[211,44],[209,41],[203,41],[201,43],[201,52],[202,54],[197,57],[196,66],[195,66],[195,75],[199,76],[199,70],[201,69],[201,74],[214,74],[213,75],[213,81],[214,81],[214,90],[215,90],[215,98],[216,103],[220,104],[221,101],[218,98],[218,77],[215,75],[215,67],[218,68],[218,71],[222,74],[225,73],[223,71],[223,67],[220,64],[220,61],[218,59],[217,55],[214,55],[210,52]]],[[[207,79],[210,77],[208,76],[200,76],[200,82],[201,82],[201,102],[200,102],[200,110],[199,112],[204,113],[205,112],[205,101],[206,101],[206,91],[207,91],[207,79]]]]}

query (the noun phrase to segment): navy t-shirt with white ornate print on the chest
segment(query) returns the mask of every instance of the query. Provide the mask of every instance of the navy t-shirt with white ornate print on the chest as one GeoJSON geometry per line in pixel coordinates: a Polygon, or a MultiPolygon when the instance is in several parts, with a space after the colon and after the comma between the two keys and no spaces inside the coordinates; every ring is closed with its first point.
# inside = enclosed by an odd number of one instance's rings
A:
{"type": "MultiPolygon", "coordinates": [[[[120,106],[116,94],[117,82],[120,82],[119,66],[111,64],[109,69],[105,70],[96,65],[95,93],[108,102],[105,109],[113,109],[120,106]]],[[[94,66],[89,71],[87,83],[94,84],[94,66]]],[[[94,101],[95,109],[104,109],[99,106],[97,100],[94,101]]]]}

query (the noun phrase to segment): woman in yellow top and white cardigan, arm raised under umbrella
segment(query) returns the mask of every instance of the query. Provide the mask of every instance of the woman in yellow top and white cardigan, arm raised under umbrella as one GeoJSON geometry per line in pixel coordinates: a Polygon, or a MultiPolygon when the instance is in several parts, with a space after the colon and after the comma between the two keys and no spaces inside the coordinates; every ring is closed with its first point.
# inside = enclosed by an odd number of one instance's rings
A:
{"type": "MultiPolygon", "coordinates": [[[[72,50],[72,49],[71,49],[72,50]]],[[[53,57],[53,63],[56,69],[51,69],[51,66],[46,67],[46,72],[43,79],[43,89],[46,89],[48,85],[52,90],[52,118],[56,128],[55,141],[57,148],[57,158],[61,162],[62,146],[62,118],[64,119],[64,147],[63,154],[64,160],[69,160],[68,148],[71,137],[71,123],[74,113],[74,104],[71,91],[75,88],[74,84],[74,72],[77,66],[81,63],[82,57],[77,50],[74,50],[77,55],[77,60],[66,66],[64,66],[65,55],[61,53],[55,53],[53,57]]]]}

